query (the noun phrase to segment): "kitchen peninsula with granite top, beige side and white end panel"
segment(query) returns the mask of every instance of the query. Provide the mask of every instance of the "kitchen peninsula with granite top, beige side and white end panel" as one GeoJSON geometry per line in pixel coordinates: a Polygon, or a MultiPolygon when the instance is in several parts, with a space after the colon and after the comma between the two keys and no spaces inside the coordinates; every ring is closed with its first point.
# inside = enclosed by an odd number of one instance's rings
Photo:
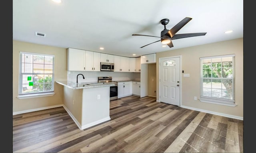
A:
{"type": "Polygon", "coordinates": [[[64,108],[78,128],[86,129],[110,120],[110,86],[98,82],[56,81],[64,86],[64,108]]]}

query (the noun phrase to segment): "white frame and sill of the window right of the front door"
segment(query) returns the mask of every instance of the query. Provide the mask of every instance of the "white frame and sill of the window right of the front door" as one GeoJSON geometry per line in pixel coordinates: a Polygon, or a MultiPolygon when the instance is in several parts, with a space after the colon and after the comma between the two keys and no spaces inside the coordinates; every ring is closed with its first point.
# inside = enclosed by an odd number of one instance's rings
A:
{"type": "MultiPolygon", "coordinates": [[[[223,63],[224,61],[220,61],[220,63],[223,63]]],[[[211,90],[213,87],[210,88],[211,90]]],[[[211,56],[211,57],[200,57],[200,99],[201,102],[207,102],[207,103],[212,103],[212,104],[220,104],[220,105],[225,105],[225,106],[237,106],[235,104],[235,55],[219,55],[219,56],[211,56]],[[232,57],[232,77],[229,78],[229,80],[232,80],[232,98],[233,99],[226,99],[226,98],[217,98],[217,97],[212,97],[212,96],[204,96],[203,95],[203,80],[204,79],[216,79],[216,80],[224,80],[226,78],[224,77],[218,77],[218,78],[204,78],[203,77],[203,62],[202,60],[204,59],[209,59],[212,61],[212,59],[217,59],[217,58],[223,58],[223,57],[232,57]]]]}

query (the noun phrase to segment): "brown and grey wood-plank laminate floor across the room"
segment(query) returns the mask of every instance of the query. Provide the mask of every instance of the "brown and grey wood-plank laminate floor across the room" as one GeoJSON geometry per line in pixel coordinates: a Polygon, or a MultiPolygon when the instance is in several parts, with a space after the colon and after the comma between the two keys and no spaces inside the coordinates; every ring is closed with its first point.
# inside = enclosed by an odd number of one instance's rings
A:
{"type": "Polygon", "coordinates": [[[13,116],[15,153],[242,153],[243,121],[128,96],[80,130],[63,107],[13,116]]]}

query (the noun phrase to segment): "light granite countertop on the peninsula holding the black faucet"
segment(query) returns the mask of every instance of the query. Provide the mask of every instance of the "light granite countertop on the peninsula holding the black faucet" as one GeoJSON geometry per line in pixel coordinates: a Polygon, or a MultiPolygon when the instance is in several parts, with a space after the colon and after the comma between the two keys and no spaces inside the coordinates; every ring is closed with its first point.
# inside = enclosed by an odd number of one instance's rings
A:
{"type": "Polygon", "coordinates": [[[84,89],[84,88],[99,88],[104,86],[115,86],[115,84],[105,84],[105,83],[98,83],[98,82],[70,82],[70,81],[55,81],[58,84],[61,84],[63,86],[66,86],[71,89],[84,89]]]}

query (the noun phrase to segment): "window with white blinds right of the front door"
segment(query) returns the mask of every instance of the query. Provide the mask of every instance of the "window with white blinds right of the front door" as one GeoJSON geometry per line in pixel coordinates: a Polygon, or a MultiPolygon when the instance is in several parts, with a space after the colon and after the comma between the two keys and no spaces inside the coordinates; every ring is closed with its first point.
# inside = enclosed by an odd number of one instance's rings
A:
{"type": "Polygon", "coordinates": [[[201,57],[202,102],[235,103],[235,55],[201,57]]]}

